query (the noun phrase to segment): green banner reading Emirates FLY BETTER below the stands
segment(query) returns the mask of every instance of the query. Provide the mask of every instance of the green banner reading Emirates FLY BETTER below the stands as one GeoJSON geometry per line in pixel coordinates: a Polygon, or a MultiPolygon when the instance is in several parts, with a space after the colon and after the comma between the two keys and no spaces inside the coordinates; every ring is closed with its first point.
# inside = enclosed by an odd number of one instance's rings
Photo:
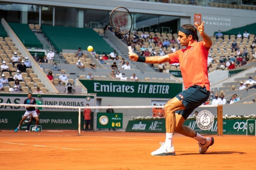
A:
{"type": "Polygon", "coordinates": [[[182,91],[182,83],[80,80],[88,93],[98,97],[172,98],[182,91]]]}

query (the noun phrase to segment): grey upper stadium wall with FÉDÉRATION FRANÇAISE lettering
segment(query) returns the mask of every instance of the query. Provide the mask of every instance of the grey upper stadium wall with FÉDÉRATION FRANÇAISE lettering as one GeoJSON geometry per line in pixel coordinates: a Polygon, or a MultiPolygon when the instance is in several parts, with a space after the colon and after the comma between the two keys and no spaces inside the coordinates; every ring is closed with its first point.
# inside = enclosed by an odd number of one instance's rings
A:
{"type": "MultiPolygon", "coordinates": [[[[134,13],[157,14],[181,17],[180,25],[194,24],[195,14],[205,21],[206,32],[213,35],[219,29],[228,31],[232,28],[242,27],[255,23],[254,10],[240,10],[232,8],[202,7],[196,5],[180,5],[173,3],[155,3],[131,0],[5,0],[11,3],[27,3],[36,5],[52,5],[78,9],[95,9],[111,11],[115,7],[123,6],[134,13]],[[199,15],[198,15],[199,14],[199,15]],[[239,21],[239,22],[238,22],[239,21]]],[[[178,28],[180,26],[177,26],[178,28]]],[[[178,29],[177,28],[177,29],[178,29]]]]}

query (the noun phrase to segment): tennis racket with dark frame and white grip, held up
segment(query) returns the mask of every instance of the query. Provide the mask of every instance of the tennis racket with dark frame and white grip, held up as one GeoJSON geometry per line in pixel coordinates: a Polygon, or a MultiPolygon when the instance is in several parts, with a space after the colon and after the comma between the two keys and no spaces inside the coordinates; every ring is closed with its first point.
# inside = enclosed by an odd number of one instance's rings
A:
{"type": "Polygon", "coordinates": [[[129,52],[133,54],[130,42],[132,18],[128,9],[125,7],[114,8],[110,14],[110,24],[113,29],[125,39],[129,52]],[[129,36],[126,39],[125,35],[128,33],[129,36]]]}

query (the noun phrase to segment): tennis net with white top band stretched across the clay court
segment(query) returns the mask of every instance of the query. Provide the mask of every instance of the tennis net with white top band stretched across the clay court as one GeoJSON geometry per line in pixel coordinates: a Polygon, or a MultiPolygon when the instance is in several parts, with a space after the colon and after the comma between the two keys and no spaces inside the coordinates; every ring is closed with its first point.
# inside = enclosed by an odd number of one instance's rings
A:
{"type": "MultiPolygon", "coordinates": [[[[73,107],[36,105],[40,110],[38,132],[30,116],[14,132],[26,109],[24,104],[0,104],[0,136],[137,136],[165,133],[164,106],[73,107]],[[84,113],[91,112],[91,121],[84,113]],[[89,110],[89,111],[88,111],[89,110]],[[152,117],[152,112],[155,117],[152,117]],[[85,123],[85,124],[84,124],[85,123]],[[88,126],[90,124],[90,126],[88,126]],[[84,126],[86,125],[86,126],[84,126]],[[27,131],[26,131],[27,130],[27,131]]],[[[201,134],[222,135],[222,106],[200,106],[185,121],[185,125],[201,134]]],[[[31,117],[32,118],[32,117],[31,117]]]]}

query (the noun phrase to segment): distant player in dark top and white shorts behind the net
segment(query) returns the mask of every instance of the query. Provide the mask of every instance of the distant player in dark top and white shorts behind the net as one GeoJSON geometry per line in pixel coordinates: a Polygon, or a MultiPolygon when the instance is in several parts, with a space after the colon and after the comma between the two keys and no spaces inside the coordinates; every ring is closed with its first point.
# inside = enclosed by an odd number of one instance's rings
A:
{"type": "MultiPolygon", "coordinates": [[[[32,98],[32,94],[31,93],[28,93],[28,99],[26,99],[24,101],[24,104],[36,104],[36,100],[34,98],[32,98]]],[[[24,106],[25,107],[25,106],[24,106]]],[[[29,116],[29,115],[32,115],[35,119],[36,119],[36,126],[35,126],[35,131],[38,132],[38,129],[37,129],[37,125],[39,123],[39,118],[38,118],[38,114],[36,113],[36,109],[35,107],[29,107],[29,106],[26,106],[26,112],[25,114],[23,115],[21,121],[19,122],[19,126],[14,130],[15,132],[17,132],[19,130],[19,128],[21,127],[22,125],[22,122],[29,116]]]]}

